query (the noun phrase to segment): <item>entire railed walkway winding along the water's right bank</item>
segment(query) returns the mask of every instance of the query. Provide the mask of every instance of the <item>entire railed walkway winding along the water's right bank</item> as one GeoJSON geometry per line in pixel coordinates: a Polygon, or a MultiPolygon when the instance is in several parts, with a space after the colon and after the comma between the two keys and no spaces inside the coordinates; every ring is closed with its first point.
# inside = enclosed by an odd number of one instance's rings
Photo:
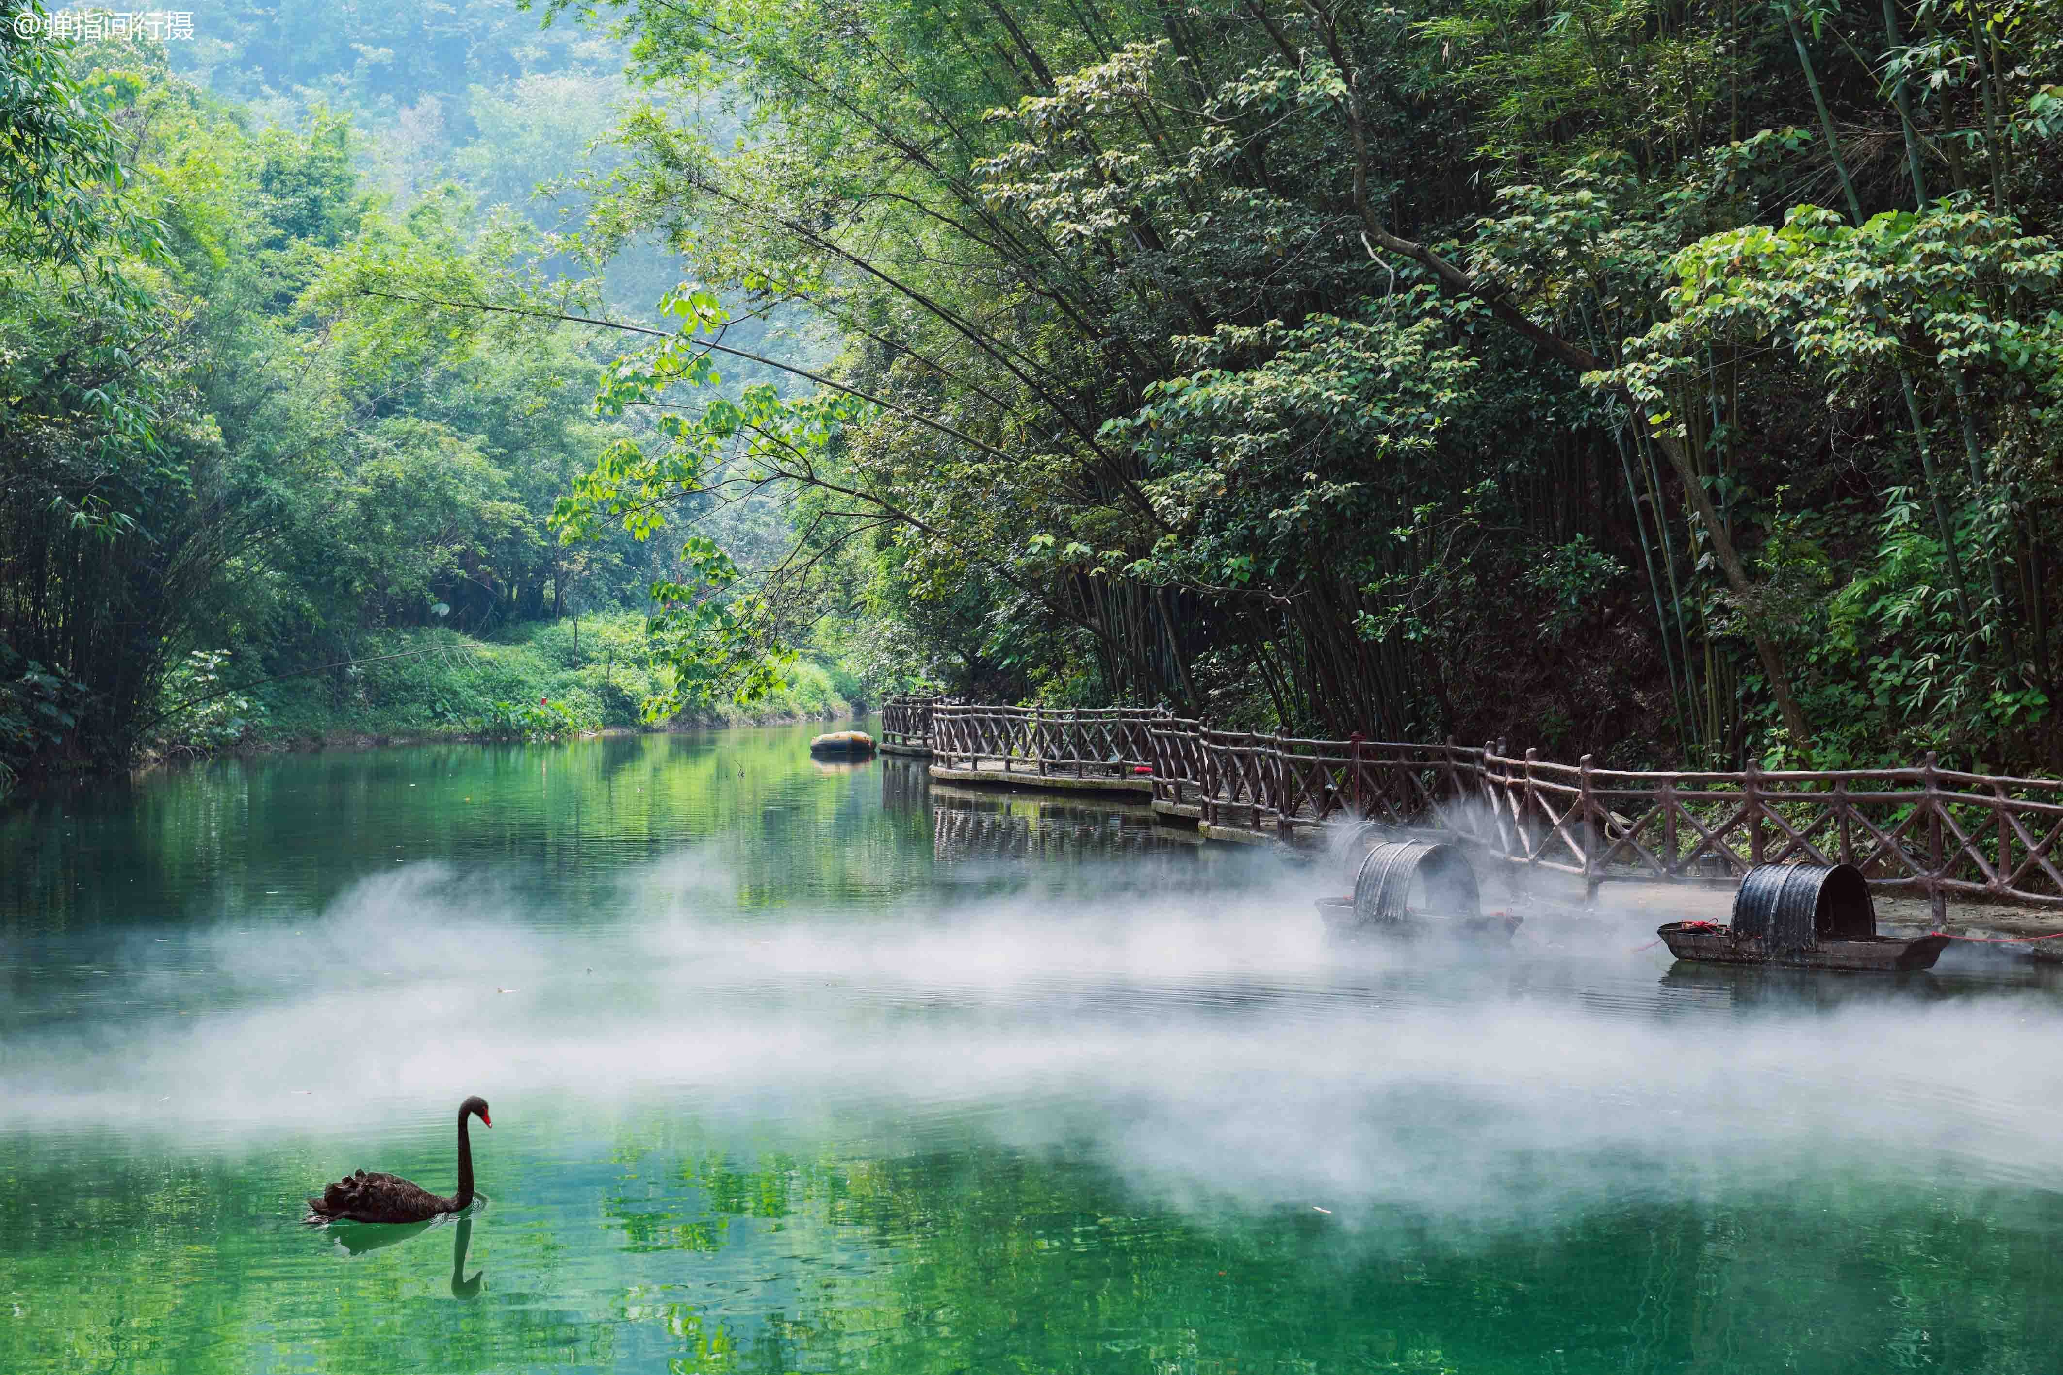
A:
{"type": "MultiPolygon", "coordinates": [[[[885,748],[959,783],[1151,794],[1207,839],[1331,847],[1376,825],[1580,880],[1733,886],[1758,864],[1853,864],[1888,895],[2063,909],[2063,781],[1941,769],[1595,769],[1537,750],[1302,740],[1161,711],[891,697],[885,748]]],[[[2063,942],[2059,942],[2063,944],[2063,942]]]]}

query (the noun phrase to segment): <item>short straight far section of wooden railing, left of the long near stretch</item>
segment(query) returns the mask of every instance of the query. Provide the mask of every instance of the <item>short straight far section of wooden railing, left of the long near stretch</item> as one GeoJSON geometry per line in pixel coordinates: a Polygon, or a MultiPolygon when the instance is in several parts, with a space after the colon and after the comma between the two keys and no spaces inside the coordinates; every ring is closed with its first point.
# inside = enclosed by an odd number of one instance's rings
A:
{"type": "Polygon", "coordinates": [[[947,769],[1003,769],[1052,777],[1128,777],[1153,767],[1149,728],[1161,711],[1139,707],[968,707],[930,711],[930,754],[947,769]]]}

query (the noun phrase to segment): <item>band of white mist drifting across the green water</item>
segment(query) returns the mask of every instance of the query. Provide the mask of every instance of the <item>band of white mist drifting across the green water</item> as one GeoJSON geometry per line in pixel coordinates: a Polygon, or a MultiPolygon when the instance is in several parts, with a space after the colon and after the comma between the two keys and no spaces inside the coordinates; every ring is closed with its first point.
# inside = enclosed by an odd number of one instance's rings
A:
{"type": "Polygon", "coordinates": [[[609,907],[635,917],[582,924],[411,864],[289,924],[72,950],[105,971],[76,1016],[10,1037],[0,1132],[202,1152],[444,1134],[483,1093],[497,1136],[648,1111],[887,1152],[974,1132],[1087,1150],[1178,1204],[1349,1227],[1853,1169],[2051,1187],[2063,1010],[2042,994],[1836,979],[1797,985],[1838,990],[1805,1006],[1760,975],[1665,983],[1638,928],[1566,952],[1339,946],[1310,878],[1065,876],[895,917],[753,911],[685,851],[625,872],[609,907]]]}

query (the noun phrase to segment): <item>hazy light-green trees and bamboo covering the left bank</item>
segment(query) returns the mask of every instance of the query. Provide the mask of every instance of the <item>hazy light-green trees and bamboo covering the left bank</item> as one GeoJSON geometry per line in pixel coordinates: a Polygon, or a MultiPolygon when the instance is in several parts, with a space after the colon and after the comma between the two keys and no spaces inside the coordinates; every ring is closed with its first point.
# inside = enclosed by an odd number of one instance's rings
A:
{"type": "MultiPolygon", "coordinates": [[[[452,295],[510,280],[596,295],[553,266],[563,245],[456,179],[382,190],[375,101],[340,101],[373,136],[316,99],[264,124],[177,76],[169,56],[192,56],[177,45],[21,37],[14,12],[33,6],[0,16],[0,785],[153,742],[474,726],[495,703],[485,682],[441,715],[402,693],[367,722],[361,662],[408,627],[507,637],[642,612],[668,585],[658,546],[567,544],[549,524],[623,429],[592,410],[607,348],[514,317],[390,328],[394,305],[359,293],[369,272],[404,272],[452,295]],[[279,717],[256,691],[272,680],[293,682],[279,717]]],[[[427,165],[514,190],[520,157],[481,138],[427,165]]],[[[592,676],[640,697],[586,699],[582,724],[635,722],[644,697],[718,709],[629,658],[627,674],[596,658],[592,676]]],[[[536,674],[507,676],[528,701],[536,674]]]]}

